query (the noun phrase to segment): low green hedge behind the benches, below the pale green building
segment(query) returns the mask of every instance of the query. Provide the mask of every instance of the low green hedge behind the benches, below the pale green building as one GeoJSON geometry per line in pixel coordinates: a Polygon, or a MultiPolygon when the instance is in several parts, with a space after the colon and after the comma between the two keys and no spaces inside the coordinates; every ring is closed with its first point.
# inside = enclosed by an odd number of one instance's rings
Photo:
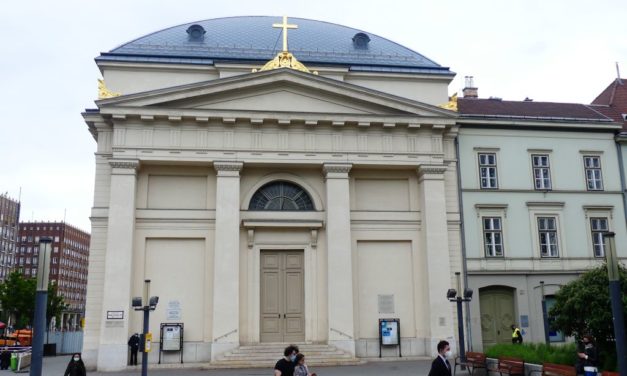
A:
{"type": "Polygon", "coordinates": [[[544,343],[499,344],[489,347],[486,355],[489,358],[500,356],[521,358],[525,363],[555,363],[572,366],[577,361],[577,346],[574,343],[560,346],[550,346],[544,343]]]}

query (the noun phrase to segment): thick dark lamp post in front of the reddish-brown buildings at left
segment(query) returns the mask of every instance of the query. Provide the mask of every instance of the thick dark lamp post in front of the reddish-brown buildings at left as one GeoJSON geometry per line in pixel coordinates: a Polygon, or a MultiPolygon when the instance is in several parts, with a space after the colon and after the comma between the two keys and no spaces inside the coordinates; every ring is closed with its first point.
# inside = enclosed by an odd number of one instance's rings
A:
{"type": "Polygon", "coordinates": [[[44,331],[46,330],[46,308],[48,304],[48,276],[50,272],[51,238],[39,239],[37,263],[37,290],[35,292],[35,320],[33,325],[33,347],[30,376],[41,376],[44,356],[44,331]]]}

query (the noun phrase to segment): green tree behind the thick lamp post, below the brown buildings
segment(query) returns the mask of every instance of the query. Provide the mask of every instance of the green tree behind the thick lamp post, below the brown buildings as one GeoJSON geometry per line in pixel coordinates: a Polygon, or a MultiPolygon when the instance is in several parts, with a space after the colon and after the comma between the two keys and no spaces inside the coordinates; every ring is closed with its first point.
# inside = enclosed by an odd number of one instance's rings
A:
{"type": "MultiPolygon", "coordinates": [[[[35,316],[35,291],[37,280],[25,278],[20,272],[13,272],[0,283],[0,305],[9,316],[15,317],[16,328],[31,325],[35,316]]],[[[57,286],[48,283],[47,321],[61,315],[67,309],[63,297],[57,292],[57,286]]],[[[57,320],[58,321],[58,320],[57,320]]]]}

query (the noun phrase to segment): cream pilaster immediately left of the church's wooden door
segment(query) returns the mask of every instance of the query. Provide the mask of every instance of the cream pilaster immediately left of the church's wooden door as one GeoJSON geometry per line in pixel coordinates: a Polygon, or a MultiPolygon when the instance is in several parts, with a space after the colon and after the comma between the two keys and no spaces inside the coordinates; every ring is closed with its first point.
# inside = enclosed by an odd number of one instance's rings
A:
{"type": "Polygon", "coordinates": [[[216,161],[216,227],[211,360],[239,346],[239,236],[241,162],[216,161]]]}

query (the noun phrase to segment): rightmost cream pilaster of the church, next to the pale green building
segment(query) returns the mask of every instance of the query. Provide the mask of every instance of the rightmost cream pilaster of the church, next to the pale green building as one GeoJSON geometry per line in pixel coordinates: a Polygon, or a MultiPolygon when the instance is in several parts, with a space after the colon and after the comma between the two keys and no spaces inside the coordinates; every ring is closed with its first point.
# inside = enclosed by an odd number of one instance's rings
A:
{"type": "Polygon", "coordinates": [[[446,194],[444,172],[446,166],[421,165],[418,168],[420,184],[420,210],[422,212],[422,252],[426,255],[428,273],[427,289],[430,341],[426,342],[427,353],[435,355],[436,345],[440,340],[447,340],[451,349],[455,343],[455,321],[453,303],[446,298],[446,292],[452,286],[453,271],[450,267],[448,247],[448,221],[446,215],[446,194]]]}

